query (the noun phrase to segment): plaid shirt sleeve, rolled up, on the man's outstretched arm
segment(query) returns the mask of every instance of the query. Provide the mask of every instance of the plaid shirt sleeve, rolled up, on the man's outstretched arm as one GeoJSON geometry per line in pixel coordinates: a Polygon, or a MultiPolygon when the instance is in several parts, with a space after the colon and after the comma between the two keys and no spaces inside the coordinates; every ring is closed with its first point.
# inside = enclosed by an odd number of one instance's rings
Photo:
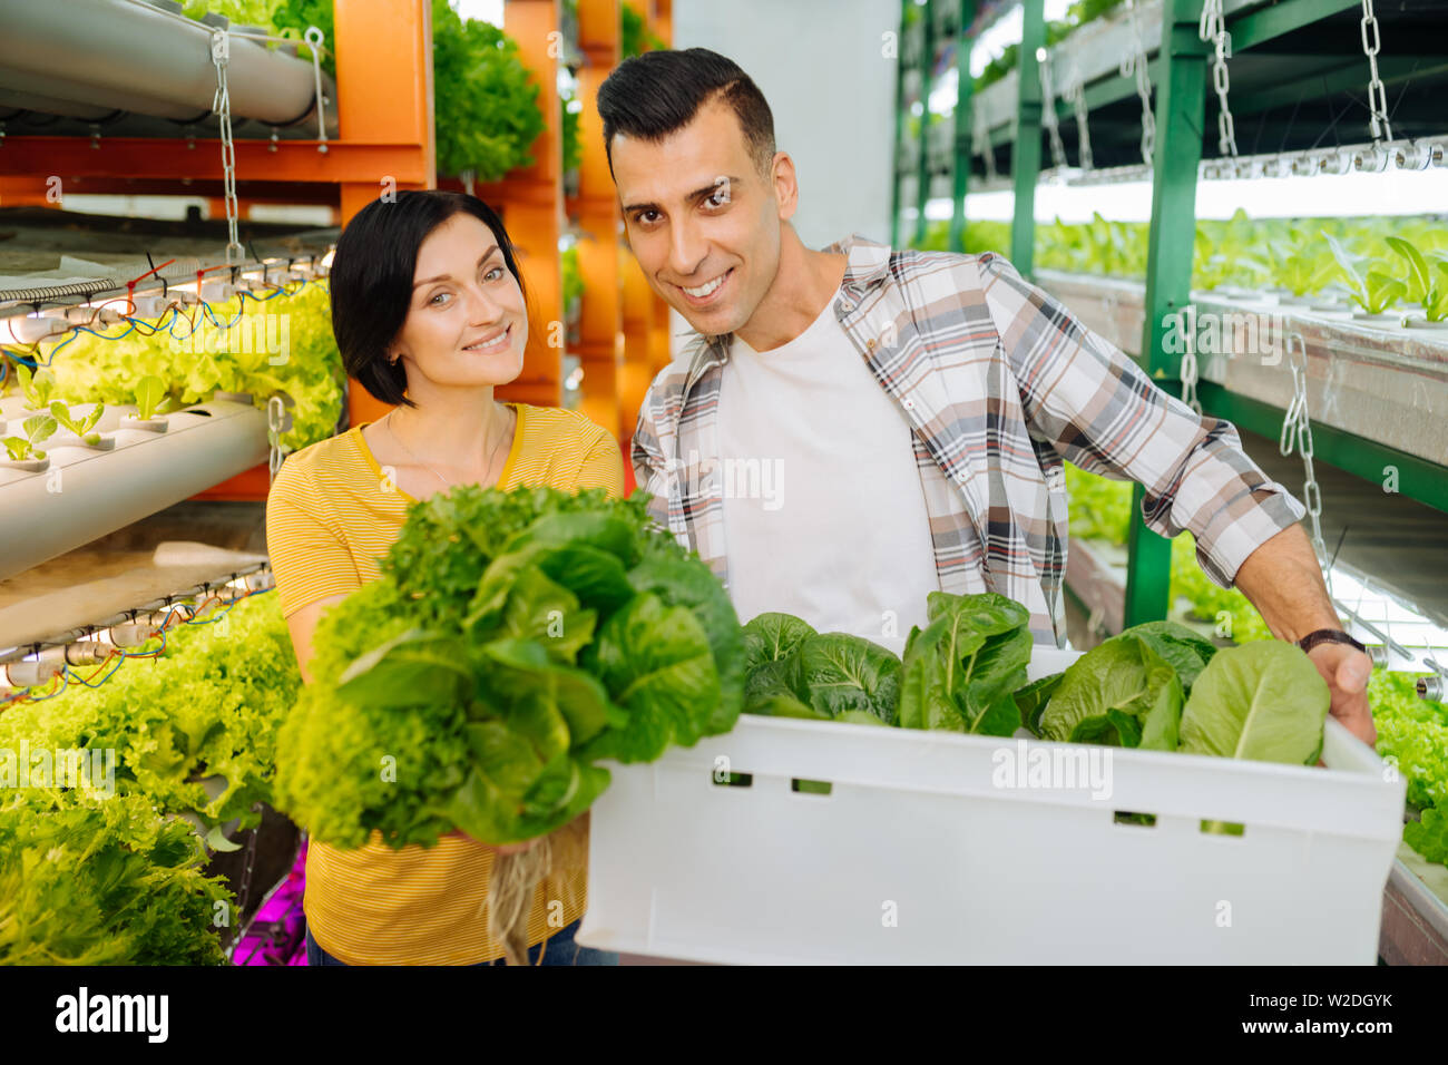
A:
{"type": "Polygon", "coordinates": [[[1032,438],[1082,469],[1141,484],[1145,526],[1190,532],[1212,581],[1232,587],[1248,555],[1302,520],[1306,507],[1253,462],[1231,422],[1158,388],[1001,256],[982,255],[980,274],[1032,438]]]}

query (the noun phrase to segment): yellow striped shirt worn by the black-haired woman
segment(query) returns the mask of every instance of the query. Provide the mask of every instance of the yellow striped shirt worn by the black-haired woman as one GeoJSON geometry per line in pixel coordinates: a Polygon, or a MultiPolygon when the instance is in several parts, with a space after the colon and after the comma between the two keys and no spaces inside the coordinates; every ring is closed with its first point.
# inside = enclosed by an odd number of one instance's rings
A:
{"type": "MultiPolygon", "coordinates": [[[[500,488],[602,487],[623,496],[623,456],[614,439],[576,412],[508,404],[517,432],[500,488]]],[[[381,572],[416,500],[384,475],[362,436],[369,423],[290,455],[266,498],[266,546],[282,616],[349,593],[381,572]]],[[[317,943],[349,965],[469,965],[502,956],[487,935],[482,904],[494,852],[445,836],[437,846],[394,851],[381,835],[356,851],[313,840],[304,910],[317,943]]],[[[586,843],[555,869],[534,898],[529,943],[572,924],[586,904],[586,843]],[[550,920],[552,917],[552,920],[550,920]]]]}

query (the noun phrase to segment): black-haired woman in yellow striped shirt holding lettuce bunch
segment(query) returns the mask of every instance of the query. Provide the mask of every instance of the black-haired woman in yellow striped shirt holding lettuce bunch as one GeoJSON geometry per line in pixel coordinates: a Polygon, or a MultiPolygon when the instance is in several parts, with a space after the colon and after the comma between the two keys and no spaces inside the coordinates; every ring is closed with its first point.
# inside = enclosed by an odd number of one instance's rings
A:
{"type": "MultiPolygon", "coordinates": [[[[266,500],[277,590],[308,682],[317,619],[379,577],[375,559],[413,501],[459,484],[624,490],[618,445],[586,417],[494,398],[523,371],[529,317],[513,245],[481,200],[404,191],[363,207],[337,243],[332,329],[348,374],[394,409],[288,456],[266,500]]],[[[568,832],[575,858],[540,885],[530,959],[546,939],[543,964],[617,964],[572,942],[586,823],[568,832]]],[[[379,836],[358,851],[313,840],[308,961],[494,964],[502,948],[481,913],[497,853],[460,833],[401,851],[379,836]]]]}

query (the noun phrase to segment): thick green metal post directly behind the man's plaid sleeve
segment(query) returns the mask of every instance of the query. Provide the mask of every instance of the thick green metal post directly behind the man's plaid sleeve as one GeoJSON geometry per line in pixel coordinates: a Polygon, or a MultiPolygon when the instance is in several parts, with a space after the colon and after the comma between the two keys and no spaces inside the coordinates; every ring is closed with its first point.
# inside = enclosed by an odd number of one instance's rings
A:
{"type": "MultiPolygon", "coordinates": [[[[1153,154],[1151,226],[1147,248],[1147,320],[1141,364],[1156,380],[1180,378],[1180,356],[1167,355],[1171,317],[1192,296],[1196,239],[1196,178],[1206,116],[1206,45],[1197,36],[1202,0],[1166,0],[1161,12],[1160,80],[1156,85],[1157,142],[1153,154]]],[[[1144,491],[1131,493],[1127,546],[1125,625],[1167,616],[1171,542],[1141,522],[1144,491]]]]}

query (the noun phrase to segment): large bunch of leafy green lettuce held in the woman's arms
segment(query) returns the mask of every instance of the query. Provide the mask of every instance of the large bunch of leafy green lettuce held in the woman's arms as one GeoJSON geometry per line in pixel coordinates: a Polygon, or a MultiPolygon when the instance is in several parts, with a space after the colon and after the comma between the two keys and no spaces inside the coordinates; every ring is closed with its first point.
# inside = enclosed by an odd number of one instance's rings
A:
{"type": "Polygon", "coordinates": [[[602,793],[597,762],[738,717],[734,609],[641,494],[455,488],[381,571],[320,619],[279,740],[278,804],[323,842],[533,839],[602,793]]]}

